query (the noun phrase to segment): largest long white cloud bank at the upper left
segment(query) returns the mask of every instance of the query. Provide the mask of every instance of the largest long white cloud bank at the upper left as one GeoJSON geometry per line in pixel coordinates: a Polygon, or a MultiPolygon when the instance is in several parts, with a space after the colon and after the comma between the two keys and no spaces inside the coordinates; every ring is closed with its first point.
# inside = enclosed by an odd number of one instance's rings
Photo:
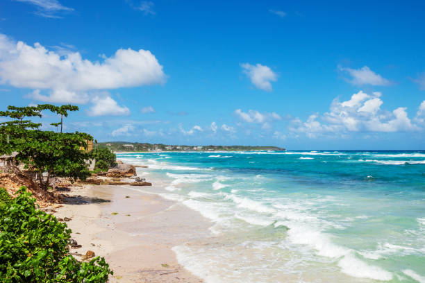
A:
{"type": "Polygon", "coordinates": [[[40,101],[86,103],[95,89],[164,82],[163,67],[150,51],[118,49],[102,62],[92,62],[78,52],[60,56],[39,43],[15,43],[0,34],[0,83],[35,89],[33,98],[40,101]]]}

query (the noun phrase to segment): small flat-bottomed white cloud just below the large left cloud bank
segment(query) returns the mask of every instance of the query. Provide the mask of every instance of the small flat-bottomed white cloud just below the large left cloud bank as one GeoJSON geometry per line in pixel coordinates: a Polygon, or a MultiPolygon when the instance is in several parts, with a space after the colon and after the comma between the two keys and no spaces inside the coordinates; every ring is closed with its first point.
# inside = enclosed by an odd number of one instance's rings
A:
{"type": "Polygon", "coordinates": [[[130,110],[119,106],[108,94],[98,94],[92,98],[94,105],[88,111],[89,116],[126,116],[130,110]]]}

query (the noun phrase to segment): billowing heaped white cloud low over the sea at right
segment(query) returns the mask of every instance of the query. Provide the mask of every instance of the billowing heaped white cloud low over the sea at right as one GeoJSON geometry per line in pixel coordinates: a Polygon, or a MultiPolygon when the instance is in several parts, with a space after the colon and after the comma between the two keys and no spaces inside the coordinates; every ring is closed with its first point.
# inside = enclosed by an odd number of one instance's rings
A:
{"type": "Polygon", "coordinates": [[[353,94],[348,101],[335,99],[329,112],[319,116],[312,114],[306,121],[296,118],[291,121],[292,132],[303,132],[308,137],[342,132],[409,132],[421,130],[408,118],[406,108],[392,112],[381,110],[381,93],[353,94]]]}

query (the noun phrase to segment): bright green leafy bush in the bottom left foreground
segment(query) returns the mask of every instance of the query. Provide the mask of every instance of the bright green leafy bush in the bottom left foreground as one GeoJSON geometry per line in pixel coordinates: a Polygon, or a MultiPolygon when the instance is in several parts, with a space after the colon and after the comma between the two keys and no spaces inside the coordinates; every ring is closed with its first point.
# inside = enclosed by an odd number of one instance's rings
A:
{"type": "Polygon", "coordinates": [[[0,282],[106,282],[113,273],[105,260],[77,261],[69,255],[70,236],[67,225],[36,209],[22,187],[0,205],[0,282]]]}

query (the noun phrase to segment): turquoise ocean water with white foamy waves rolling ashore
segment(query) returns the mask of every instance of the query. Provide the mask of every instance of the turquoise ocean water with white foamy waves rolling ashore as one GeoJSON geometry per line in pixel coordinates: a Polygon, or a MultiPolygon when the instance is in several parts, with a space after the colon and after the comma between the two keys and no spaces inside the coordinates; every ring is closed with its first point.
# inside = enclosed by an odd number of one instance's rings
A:
{"type": "MultiPolygon", "coordinates": [[[[425,283],[425,151],[125,153],[139,188],[212,221],[176,246],[206,282],[425,283]]],[[[190,221],[190,219],[188,219],[190,221]]]]}

